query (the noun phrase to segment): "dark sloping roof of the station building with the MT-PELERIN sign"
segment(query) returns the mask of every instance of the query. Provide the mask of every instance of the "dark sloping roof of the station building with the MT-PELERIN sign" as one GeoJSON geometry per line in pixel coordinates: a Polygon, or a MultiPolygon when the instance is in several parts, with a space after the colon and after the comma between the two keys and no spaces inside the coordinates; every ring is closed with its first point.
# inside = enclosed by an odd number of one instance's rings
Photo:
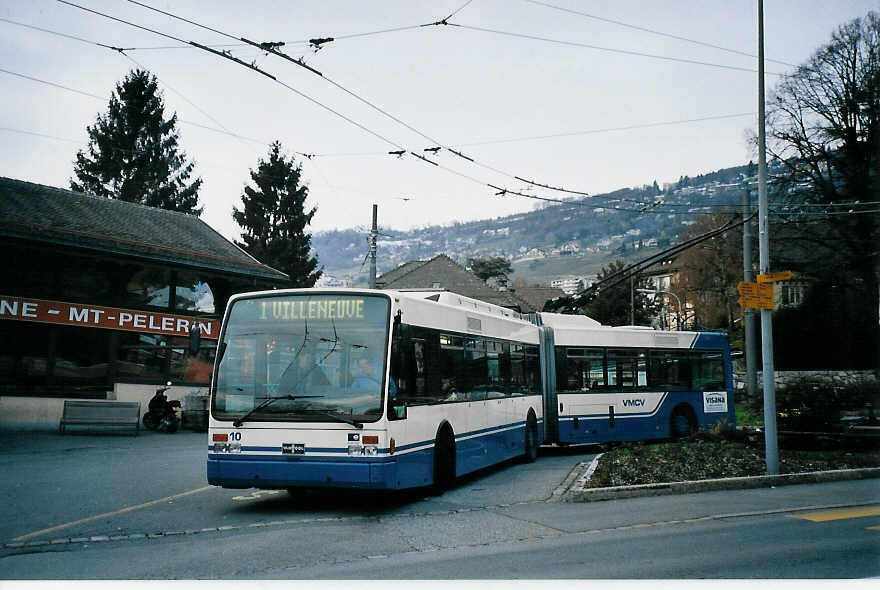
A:
{"type": "Polygon", "coordinates": [[[0,237],[286,281],[207,223],[117,199],[0,177],[0,237]]]}

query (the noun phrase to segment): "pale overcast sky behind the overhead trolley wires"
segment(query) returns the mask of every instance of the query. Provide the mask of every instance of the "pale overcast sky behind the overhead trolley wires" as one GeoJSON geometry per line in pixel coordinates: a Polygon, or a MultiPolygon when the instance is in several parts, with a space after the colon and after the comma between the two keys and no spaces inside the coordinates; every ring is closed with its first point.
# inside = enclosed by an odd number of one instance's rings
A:
{"type": "MultiPolygon", "coordinates": [[[[236,38],[284,41],[281,51],[323,79],[125,0],[71,1],[184,41],[230,45],[218,49],[278,81],[57,1],[2,0],[0,175],[67,188],[86,126],[137,62],[178,114],[181,147],[204,179],[202,218],[229,238],[239,234],[231,212],[249,170],[275,139],[302,163],[318,207],[313,230],[368,226],[372,203],[380,225],[411,228],[539,202],[496,196],[489,184],[566,196],[515,176],[592,194],[754,157],[757,66],[743,54],[756,53],[756,0],[142,0],[236,38]],[[453,26],[415,26],[453,13],[453,26]],[[327,37],[336,40],[310,49],[309,39],[327,37]],[[438,146],[474,161],[423,151],[438,146]],[[398,149],[439,165],[388,154],[398,149]]],[[[876,0],[766,0],[768,91],[774,74],[872,9],[876,0]]]]}

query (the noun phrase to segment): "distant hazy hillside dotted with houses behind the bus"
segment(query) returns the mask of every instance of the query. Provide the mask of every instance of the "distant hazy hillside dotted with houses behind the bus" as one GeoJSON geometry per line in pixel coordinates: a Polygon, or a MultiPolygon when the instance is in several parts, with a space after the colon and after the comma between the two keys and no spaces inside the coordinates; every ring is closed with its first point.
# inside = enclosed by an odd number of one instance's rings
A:
{"type": "MultiPolygon", "coordinates": [[[[615,258],[647,256],[674,243],[698,215],[738,207],[752,176],[749,166],[738,166],[662,186],[655,181],[561,203],[536,201],[533,211],[495,219],[407,231],[380,228],[378,272],[438,254],[460,264],[501,256],[531,283],[573,291],[615,258]]],[[[324,266],[324,284],[366,285],[366,233],[318,232],[312,243],[324,266]]]]}

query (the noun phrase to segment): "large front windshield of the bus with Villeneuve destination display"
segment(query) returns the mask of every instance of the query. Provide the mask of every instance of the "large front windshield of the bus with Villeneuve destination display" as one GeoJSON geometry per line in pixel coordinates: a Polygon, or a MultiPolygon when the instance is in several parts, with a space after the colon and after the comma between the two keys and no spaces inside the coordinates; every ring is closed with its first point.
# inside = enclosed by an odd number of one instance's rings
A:
{"type": "Polygon", "coordinates": [[[218,349],[214,417],[378,420],[389,321],[390,301],[382,296],[302,293],[235,301],[218,349]]]}

